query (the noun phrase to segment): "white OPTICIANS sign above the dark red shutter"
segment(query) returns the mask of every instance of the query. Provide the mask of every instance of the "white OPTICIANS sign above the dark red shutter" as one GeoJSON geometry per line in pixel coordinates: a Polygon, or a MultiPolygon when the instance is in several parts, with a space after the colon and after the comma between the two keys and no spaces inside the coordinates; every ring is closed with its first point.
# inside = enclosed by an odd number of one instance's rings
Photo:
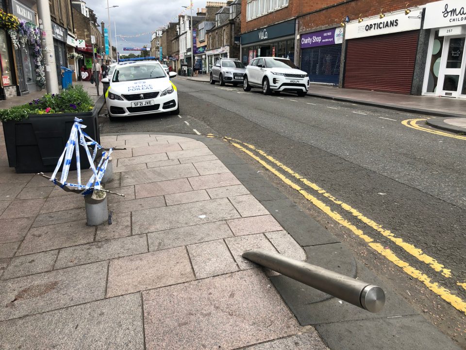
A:
{"type": "Polygon", "coordinates": [[[384,35],[399,32],[407,32],[421,28],[422,11],[413,10],[410,16],[406,16],[404,11],[394,15],[386,15],[384,18],[374,16],[366,18],[361,23],[357,20],[346,25],[345,39],[354,39],[358,37],[384,35]],[[412,16],[411,16],[412,15],[412,16]]]}

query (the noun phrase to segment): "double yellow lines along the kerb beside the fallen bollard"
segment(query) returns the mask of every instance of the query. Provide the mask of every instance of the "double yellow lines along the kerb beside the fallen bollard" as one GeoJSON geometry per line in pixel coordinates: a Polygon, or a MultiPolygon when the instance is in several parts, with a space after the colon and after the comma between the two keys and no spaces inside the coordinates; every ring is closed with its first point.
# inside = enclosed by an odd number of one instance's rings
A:
{"type": "MultiPolygon", "coordinates": [[[[216,137],[212,134],[208,134],[208,137],[216,137]]],[[[302,183],[306,185],[308,188],[314,190],[315,192],[319,193],[320,195],[328,198],[331,200],[333,203],[339,205],[342,209],[350,212],[350,214],[360,221],[364,222],[367,226],[372,227],[376,231],[380,232],[384,237],[388,238],[390,241],[395,243],[396,245],[400,246],[403,248],[406,252],[414,256],[416,259],[418,259],[421,262],[426,263],[428,266],[430,266],[434,271],[441,273],[443,276],[450,278],[451,277],[451,270],[446,268],[444,265],[441,263],[437,262],[435,259],[432,257],[424,254],[421,249],[416,248],[414,245],[411,245],[409,243],[404,242],[401,238],[396,237],[392,232],[390,232],[387,229],[384,229],[382,225],[377,224],[373,220],[367,218],[364,216],[360,211],[352,208],[350,205],[338,200],[335,198],[332,194],[329,192],[325,191],[324,189],[320,188],[318,185],[315,183],[307,180],[306,178],[300,176],[293,170],[291,170],[289,167],[285,166],[282,164],[280,161],[277,159],[267,155],[264,151],[257,149],[255,146],[242,142],[240,140],[235,140],[232,138],[228,137],[223,137],[222,139],[230,142],[234,147],[238,148],[239,150],[243,151],[253,159],[255,159],[257,162],[259,162],[261,165],[263,165],[267,170],[269,170],[272,174],[276,175],[279,177],[285,184],[290,186],[291,188],[295,189],[296,191],[300,192],[300,194],[306,198],[308,201],[310,201],[312,204],[314,204],[318,209],[322,210],[325,214],[330,216],[333,220],[338,222],[340,225],[349,228],[355,235],[363,239],[372,249],[377,251],[379,254],[383,255],[385,258],[387,258],[389,261],[393,262],[397,266],[399,266],[405,273],[410,275],[411,277],[415,278],[416,280],[421,281],[426,285],[431,291],[433,291],[435,294],[440,296],[442,299],[447,301],[449,304],[451,304],[454,308],[457,310],[463,312],[466,314],[466,302],[462,300],[460,297],[457,297],[454,295],[452,292],[450,292],[448,289],[445,287],[439,285],[437,282],[432,281],[426,274],[422,273],[421,271],[417,270],[416,268],[412,267],[409,265],[409,263],[402,261],[399,259],[396,254],[389,248],[383,247],[380,243],[374,241],[371,237],[367,236],[363,230],[355,227],[353,224],[350,223],[350,221],[346,220],[342,215],[340,215],[337,211],[332,210],[328,205],[326,205],[324,202],[319,200],[316,196],[312,195],[309,193],[305,188],[302,188],[299,183],[302,183]],[[290,178],[287,176],[283,175],[279,170],[274,168],[272,165],[267,163],[266,160],[262,159],[262,156],[266,158],[268,161],[271,163],[275,164],[278,168],[283,170],[283,172],[287,173],[288,175],[291,175],[291,177],[299,180],[300,182],[295,183],[292,181],[290,178]]],[[[458,285],[463,286],[463,283],[458,282],[458,285]]]]}

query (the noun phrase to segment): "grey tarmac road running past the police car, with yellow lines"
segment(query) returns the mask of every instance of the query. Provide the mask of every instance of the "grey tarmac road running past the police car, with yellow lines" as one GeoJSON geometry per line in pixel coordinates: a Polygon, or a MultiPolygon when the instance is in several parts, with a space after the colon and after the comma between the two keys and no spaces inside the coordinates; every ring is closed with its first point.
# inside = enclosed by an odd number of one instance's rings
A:
{"type": "MultiPolygon", "coordinates": [[[[242,157],[257,165],[261,159],[317,199],[304,198],[263,168],[272,183],[466,347],[466,140],[401,123],[428,116],[173,81],[180,116],[101,118],[101,132],[197,131],[242,141],[235,143],[256,159],[238,149],[242,157]],[[383,250],[369,246],[374,243],[383,250]]],[[[424,123],[417,122],[427,128],[424,123]]]]}

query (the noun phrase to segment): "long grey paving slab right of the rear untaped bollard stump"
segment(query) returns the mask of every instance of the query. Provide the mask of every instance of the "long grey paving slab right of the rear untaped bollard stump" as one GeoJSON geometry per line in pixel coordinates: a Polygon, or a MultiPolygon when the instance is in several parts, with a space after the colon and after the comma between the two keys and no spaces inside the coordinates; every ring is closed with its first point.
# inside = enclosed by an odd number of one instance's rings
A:
{"type": "Polygon", "coordinates": [[[121,174],[121,186],[174,180],[189,176],[198,176],[192,164],[170,165],[162,168],[128,171],[121,174]]]}

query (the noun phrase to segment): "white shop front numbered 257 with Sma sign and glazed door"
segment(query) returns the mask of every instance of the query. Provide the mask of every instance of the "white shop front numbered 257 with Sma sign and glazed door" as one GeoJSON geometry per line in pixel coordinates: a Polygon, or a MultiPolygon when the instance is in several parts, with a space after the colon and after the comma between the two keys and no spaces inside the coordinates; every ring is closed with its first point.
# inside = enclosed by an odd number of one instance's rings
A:
{"type": "Polygon", "coordinates": [[[466,5],[445,0],[425,5],[430,39],[423,95],[466,99],[466,5]]]}

